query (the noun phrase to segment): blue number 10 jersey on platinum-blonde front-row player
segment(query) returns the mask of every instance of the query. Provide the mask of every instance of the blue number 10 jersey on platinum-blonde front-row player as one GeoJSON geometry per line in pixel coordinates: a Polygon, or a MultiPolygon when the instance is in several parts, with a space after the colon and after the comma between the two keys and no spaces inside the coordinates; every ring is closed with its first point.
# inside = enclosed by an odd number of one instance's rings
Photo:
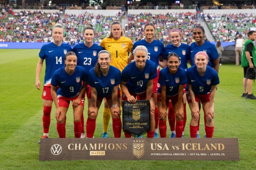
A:
{"type": "Polygon", "coordinates": [[[150,60],[146,60],[145,67],[142,71],[137,68],[135,62],[128,64],[122,71],[122,81],[127,82],[128,91],[135,94],[145,92],[148,80],[152,80],[156,76],[156,65],[150,60]]]}

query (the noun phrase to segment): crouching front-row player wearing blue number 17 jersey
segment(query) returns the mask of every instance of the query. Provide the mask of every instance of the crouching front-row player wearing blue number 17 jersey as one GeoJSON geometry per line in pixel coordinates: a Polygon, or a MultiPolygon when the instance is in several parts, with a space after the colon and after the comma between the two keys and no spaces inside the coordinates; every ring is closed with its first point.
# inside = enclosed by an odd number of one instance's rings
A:
{"type": "Polygon", "coordinates": [[[91,86],[92,105],[89,107],[86,122],[87,138],[92,138],[94,135],[96,118],[103,98],[106,99],[110,106],[114,136],[115,138],[120,138],[121,136],[121,110],[118,102],[118,85],[121,82],[121,72],[119,69],[110,66],[110,62],[110,52],[102,50],[98,54],[98,63],[89,71],[88,84],[91,86]]]}

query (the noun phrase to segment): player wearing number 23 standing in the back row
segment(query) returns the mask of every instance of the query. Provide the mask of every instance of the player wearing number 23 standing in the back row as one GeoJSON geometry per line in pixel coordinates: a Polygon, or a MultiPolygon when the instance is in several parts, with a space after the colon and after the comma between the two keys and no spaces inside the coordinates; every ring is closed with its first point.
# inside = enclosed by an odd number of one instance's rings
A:
{"type": "MultiPolygon", "coordinates": [[[[93,27],[85,27],[84,28],[84,43],[78,44],[73,48],[73,52],[76,53],[77,56],[77,65],[82,66],[85,68],[87,72],[89,72],[90,69],[94,68],[97,60],[98,60],[98,53],[103,50],[103,48],[93,42],[94,39],[94,28],[93,27]]],[[[90,86],[87,85],[86,88],[86,96],[88,101],[88,108],[91,106],[91,97],[90,94],[90,86]]],[[[84,134],[84,115],[82,114],[82,134],[81,138],[85,137],[84,134]]]]}

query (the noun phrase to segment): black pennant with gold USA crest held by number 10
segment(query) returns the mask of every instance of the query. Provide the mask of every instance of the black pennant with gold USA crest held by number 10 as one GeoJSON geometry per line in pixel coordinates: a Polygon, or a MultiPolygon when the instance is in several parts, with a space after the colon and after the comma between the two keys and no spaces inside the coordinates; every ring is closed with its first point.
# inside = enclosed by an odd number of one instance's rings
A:
{"type": "Polygon", "coordinates": [[[150,101],[123,101],[123,131],[136,136],[150,130],[150,101]]]}

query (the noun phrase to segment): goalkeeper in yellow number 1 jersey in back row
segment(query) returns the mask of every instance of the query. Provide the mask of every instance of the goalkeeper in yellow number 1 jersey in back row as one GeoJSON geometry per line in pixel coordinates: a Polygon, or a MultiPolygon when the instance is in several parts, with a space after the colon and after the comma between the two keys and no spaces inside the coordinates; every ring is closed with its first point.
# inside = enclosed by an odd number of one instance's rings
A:
{"type": "MultiPolygon", "coordinates": [[[[112,58],[110,64],[122,72],[128,64],[128,53],[131,52],[133,44],[130,38],[124,37],[122,25],[119,21],[113,21],[110,29],[110,35],[101,41],[100,46],[110,52],[112,58]]],[[[122,98],[122,91],[120,93],[122,98]]],[[[110,117],[110,109],[105,101],[103,109],[103,138],[108,137],[110,117]]]]}

